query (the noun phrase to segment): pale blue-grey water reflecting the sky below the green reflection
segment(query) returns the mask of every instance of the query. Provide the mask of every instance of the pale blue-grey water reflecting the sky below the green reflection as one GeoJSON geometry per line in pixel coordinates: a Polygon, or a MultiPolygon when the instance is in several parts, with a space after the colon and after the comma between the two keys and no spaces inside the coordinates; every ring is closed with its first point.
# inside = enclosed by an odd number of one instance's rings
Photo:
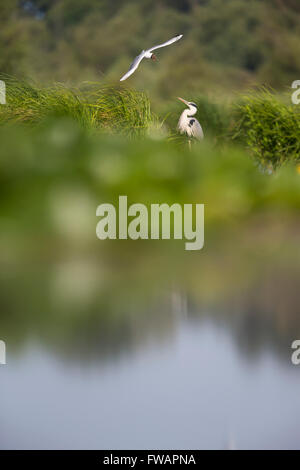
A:
{"type": "Polygon", "coordinates": [[[31,345],[1,374],[3,448],[299,446],[299,372],[268,350],[250,366],[212,321],[104,365],[31,345]]]}

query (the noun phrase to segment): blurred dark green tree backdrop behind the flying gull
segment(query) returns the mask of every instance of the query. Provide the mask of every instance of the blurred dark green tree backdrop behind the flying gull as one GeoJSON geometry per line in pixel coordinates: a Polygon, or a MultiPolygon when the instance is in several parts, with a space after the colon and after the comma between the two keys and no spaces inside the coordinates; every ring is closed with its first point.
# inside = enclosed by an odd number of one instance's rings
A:
{"type": "Polygon", "coordinates": [[[298,3],[13,0],[0,6],[0,71],[45,83],[114,83],[142,48],[183,33],[129,85],[160,99],[253,83],[283,89],[300,76],[298,3]]]}

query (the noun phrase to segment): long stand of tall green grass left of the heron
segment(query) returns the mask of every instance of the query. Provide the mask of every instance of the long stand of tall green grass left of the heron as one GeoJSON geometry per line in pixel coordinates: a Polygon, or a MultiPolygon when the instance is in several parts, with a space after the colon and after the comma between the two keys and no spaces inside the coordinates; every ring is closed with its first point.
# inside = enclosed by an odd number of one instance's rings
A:
{"type": "Polygon", "coordinates": [[[144,93],[88,84],[84,89],[61,84],[41,88],[12,77],[6,83],[7,104],[0,107],[0,124],[18,122],[36,125],[47,118],[67,117],[86,129],[143,135],[155,121],[144,93]]]}

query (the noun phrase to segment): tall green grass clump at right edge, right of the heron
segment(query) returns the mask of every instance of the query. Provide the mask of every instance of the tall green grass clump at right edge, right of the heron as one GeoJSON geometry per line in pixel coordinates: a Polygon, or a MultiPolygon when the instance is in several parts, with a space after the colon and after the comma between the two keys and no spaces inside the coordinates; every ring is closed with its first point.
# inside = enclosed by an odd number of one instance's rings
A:
{"type": "Polygon", "coordinates": [[[300,109],[267,89],[243,96],[236,105],[235,138],[246,143],[263,166],[300,160],[300,109]]]}

